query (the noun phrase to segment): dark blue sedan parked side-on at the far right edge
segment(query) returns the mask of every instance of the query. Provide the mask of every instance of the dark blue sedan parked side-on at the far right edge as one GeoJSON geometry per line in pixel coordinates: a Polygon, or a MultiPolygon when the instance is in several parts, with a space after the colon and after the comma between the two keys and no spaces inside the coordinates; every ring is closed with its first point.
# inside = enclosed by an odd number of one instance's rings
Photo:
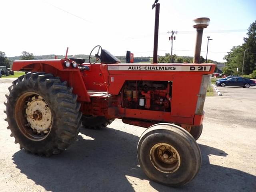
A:
{"type": "Polygon", "coordinates": [[[255,86],[256,82],[247,78],[242,77],[233,77],[227,80],[216,81],[217,86],[226,87],[226,86],[242,86],[249,88],[250,86],[255,86]]]}

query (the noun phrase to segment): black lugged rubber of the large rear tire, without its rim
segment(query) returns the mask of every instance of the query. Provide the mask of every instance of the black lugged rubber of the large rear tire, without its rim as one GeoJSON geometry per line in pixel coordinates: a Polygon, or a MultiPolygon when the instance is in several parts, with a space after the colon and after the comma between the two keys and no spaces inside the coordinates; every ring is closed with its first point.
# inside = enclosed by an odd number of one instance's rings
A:
{"type": "Polygon", "coordinates": [[[4,112],[7,115],[6,121],[8,122],[7,129],[11,130],[11,136],[14,136],[15,143],[19,143],[21,149],[24,148],[32,154],[50,156],[66,150],[76,139],[81,125],[82,112],[79,111],[80,103],[76,101],[77,95],[72,94],[70,92],[72,88],[65,85],[66,83],[63,84],[59,77],[54,77],[52,74],[46,74],[44,72],[35,72],[20,76],[9,87],[9,95],[6,96],[7,102],[4,102],[6,105],[4,112]],[[43,145],[43,142],[46,142],[44,140],[34,142],[25,138],[14,119],[15,104],[18,97],[22,94],[20,92],[24,88],[34,89],[38,94],[44,95],[43,98],[46,98],[48,103],[50,100],[49,105],[53,104],[56,106],[55,108],[51,108],[53,111],[52,129],[54,129],[51,132],[55,132],[54,137],[56,138],[53,138],[54,134],[51,135],[50,132],[46,139],[44,139],[48,140],[48,143],[45,145],[43,145]],[[39,142],[41,144],[38,144],[39,142]],[[44,147],[37,148],[37,144],[44,147]]]}

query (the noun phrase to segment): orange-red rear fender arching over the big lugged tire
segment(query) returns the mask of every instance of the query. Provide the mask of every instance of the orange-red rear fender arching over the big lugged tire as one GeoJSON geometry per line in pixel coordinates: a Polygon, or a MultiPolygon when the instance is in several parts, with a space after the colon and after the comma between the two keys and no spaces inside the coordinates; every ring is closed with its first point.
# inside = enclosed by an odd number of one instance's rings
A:
{"type": "MultiPolygon", "coordinates": [[[[82,74],[78,67],[65,67],[66,59],[54,60],[18,60],[14,61],[12,70],[14,71],[31,71],[46,72],[60,77],[60,80],[66,81],[68,86],[73,88],[73,94],[77,94],[79,102],[90,102],[86,86],[82,79],[82,74]]],[[[70,61],[71,63],[71,61],[70,61]]]]}

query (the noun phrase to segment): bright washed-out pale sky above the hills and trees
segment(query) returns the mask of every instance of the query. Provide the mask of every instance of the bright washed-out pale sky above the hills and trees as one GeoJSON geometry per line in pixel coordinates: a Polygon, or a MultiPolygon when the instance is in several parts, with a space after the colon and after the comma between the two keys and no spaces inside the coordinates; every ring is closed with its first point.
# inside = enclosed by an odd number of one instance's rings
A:
{"type": "MultiPolygon", "coordinates": [[[[19,56],[90,54],[101,45],[116,56],[153,56],[154,0],[2,0],[0,51],[19,56]]],[[[204,29],[201,55],[225,62],[232,46],[241,45],[256,21],[255,0],[159,0],[158,55],[170,53],[167,31],[178,31],[173,54],[194,56],[196,30],[192,20],[210,18],[204,29]]]]}

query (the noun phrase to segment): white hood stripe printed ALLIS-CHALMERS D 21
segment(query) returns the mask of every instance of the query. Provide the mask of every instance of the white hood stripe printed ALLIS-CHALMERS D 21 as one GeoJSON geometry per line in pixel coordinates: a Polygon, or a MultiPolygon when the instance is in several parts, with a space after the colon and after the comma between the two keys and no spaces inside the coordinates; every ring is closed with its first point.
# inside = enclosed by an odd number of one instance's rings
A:
{"type": "Polygon", "coordinates": [[[119,71],[210,71],[211,66],[166,66],[166,65],[125,65],[108,66],[108,70],[119,71]]]}

